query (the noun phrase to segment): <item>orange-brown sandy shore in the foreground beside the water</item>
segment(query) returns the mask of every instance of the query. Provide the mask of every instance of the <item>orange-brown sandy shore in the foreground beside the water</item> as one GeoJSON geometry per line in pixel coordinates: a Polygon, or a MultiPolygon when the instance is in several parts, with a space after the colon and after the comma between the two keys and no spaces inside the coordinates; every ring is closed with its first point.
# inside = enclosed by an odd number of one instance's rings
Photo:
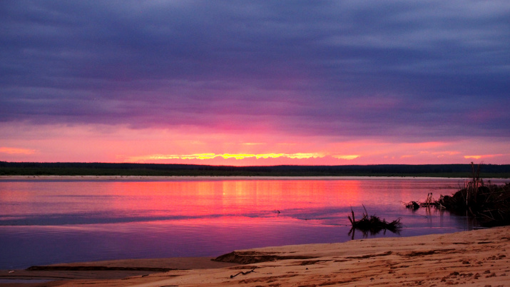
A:
{"type": "MultiPolygon", "coordinates": [[[[222,256],[223,260],[236,261],[237,265],[218,263],[210,261],[209,258],[74,263],[74,266],[123,265],[176,267],[180,270],[142,272],[143,274],[128,275],[126,278],[75,278],[71,281],[34,283],[30,286],[449,286],[457,284],[510,286],[509,251],[510,226],[504,226],[429,236],[255,248],[222,256]]],[[[68,264],[68,266],[71,265],[68,264]]],[[[4,276],[4,273],[1,275],[4,276]]]]}

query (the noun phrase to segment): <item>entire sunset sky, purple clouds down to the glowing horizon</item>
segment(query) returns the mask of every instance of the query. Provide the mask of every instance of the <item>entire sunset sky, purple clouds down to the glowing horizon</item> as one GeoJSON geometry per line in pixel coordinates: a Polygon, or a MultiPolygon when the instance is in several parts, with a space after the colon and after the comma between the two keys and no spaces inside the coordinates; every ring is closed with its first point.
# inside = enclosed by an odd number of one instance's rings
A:
{"type": "Polygon", "coordinates": [[[510,163],[510,1],[0,1],[0,161],[510,163]]]}

